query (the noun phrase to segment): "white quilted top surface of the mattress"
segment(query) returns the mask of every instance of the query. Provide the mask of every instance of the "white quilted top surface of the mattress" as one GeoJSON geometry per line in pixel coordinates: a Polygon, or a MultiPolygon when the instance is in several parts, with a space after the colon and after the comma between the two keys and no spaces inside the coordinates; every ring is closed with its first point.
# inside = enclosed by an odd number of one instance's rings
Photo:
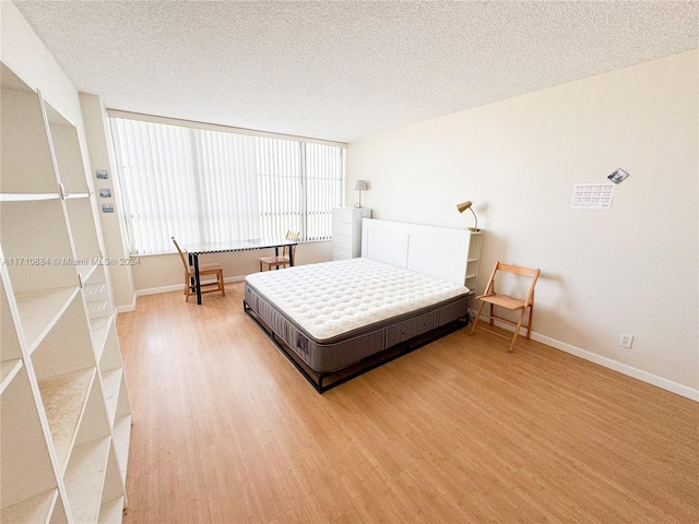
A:
{"type": "Polygon", "coordinates": [[[254,273],[246,282],[321,341],[470,293],[371,259],[254,273]]]}

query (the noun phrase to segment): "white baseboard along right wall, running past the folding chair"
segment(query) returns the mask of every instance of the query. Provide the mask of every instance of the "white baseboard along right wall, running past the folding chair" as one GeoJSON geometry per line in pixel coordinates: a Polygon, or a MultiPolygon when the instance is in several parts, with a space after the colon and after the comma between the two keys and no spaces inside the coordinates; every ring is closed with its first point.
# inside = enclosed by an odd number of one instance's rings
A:
{"type": "MultiPolygon", "coordinates": [[[[475,312],[469,310],[471,312],[471,319],[475,318],[475,312]]],[[[481,314],[481,320],[478,322],[489,322],[490,318],[481,314]]],[[[514,329],[505,322],[495,321],[495,325],[498,327],[503,327],[508,331],[514,331],[514,329]]],[[[526,336],[526,330],[521,330],[520,335],[526,336]]],[[[695,402],[699,402],[699,390],[695,390],[694,388],[689,388],[688,385],[679,384],[672,380],[665,379],[663,377],[659,377],[656,374],[650,373],[648,371],[643,371],[642,369],[635,368],[627,364],[619,362],[617,360],[613,360],[612,358],[603,357],[592,352],[588,352],[587,349],[582,349],[580,347],[573,346],[571,344],[567,344],[565,342],[557,341],[556,338],[552,338],[550,336],[542,335],[541,333],[536,333],[532,331],[532,340],[536,342],[541,342],[542,344],[546,344],[555,349],[560,349],[561,352],[568,353],[570,355],[574,355],[576,357],[580,357],[584,360],[589,360],[591,362],[597,364],[600,366],[604,366],[605,368],[617,371],[621,374],[626,374],[627,377],[631,377],[633,379],[640,380],[648,384],[655,385],[665,391],[670,391],[677,395],[684,396],[695,402]]]]}

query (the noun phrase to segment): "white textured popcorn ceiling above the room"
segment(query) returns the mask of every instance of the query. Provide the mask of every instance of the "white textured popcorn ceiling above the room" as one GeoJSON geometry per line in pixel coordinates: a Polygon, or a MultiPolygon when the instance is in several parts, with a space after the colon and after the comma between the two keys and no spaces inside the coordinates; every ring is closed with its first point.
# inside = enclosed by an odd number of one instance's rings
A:
{"type": "Polygon", "coordinates": [[[109,108],[341,142],[699,38],[697,1],[14,3],[109,108]]]}

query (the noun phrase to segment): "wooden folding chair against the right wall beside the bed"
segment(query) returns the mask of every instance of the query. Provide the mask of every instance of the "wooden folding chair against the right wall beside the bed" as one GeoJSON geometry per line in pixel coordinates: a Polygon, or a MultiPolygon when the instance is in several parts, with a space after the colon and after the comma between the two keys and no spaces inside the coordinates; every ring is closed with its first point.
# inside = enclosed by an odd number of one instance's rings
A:
{"type": "MultiPolygon", "coordinates": [[[[512,349],[514,348],[514,343],[517,342],[517,337],[520,334],[520,327],[526,327],[526,338],[530,338],[532,334],[532,317],[534,315],[534,286],[536,285],[536,279],[538,278],[540,273],[541,273],[541,270],[529,270],[526,267],[519,267],[517,265],[503,264],[502,262],[496,263],[495,267],[493,269],[493,273],[490,274],[490,279],[488,281],[488,285],[485,288],[485,294],[477,297],[482,303],[481,303],[481,307],[478,308],[478,313],[476,314],[476,318],[473,321],[473,326],[471,327],[471,334],[473,335],[473,332],[476,330],[476,324],[478,323],[478,318],[481,317],[483,307],[486,303],[489,303],[490,305],[490,325],[493,325],[493,321],[497,319],[501,322],[516,326],[514,333],[512,335],[512,342],[510,343],[510,349],[509,349],[510,353],[512,353],[512,349]],[[531,283],[529,285],[526,297],[522,299],[522,298],[516,298],[509,295],[503,295],[498,293],[495,289],[495,279],[496,279],[496,276],[500,278],[502,276],[501,273],[509,273],[517,276],[530,277],[531,283]],[[497,317],[494,311],[495,306],[508,309],[510,311],[519,311],[520,312],[519,320],[514,322],[510,319],[497,317]],[[526,313],[528,309],[529,309],[529,321],[526,324],[523,324],[524,314],[526,313]]],[[[503,338],[509,338],[509,336],[506,336],[496,331],[491,331],[483,326],[481,329],[488,331],[490,333],[494,333],[498,336],[502,336],[503,338]]]]}

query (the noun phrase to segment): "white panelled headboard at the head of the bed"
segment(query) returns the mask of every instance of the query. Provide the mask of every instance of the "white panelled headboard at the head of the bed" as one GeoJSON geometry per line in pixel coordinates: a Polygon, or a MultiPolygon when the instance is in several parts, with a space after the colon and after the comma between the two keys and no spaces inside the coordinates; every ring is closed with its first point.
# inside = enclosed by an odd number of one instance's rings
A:
{"type": "Polygon", "coordinates": [[[471,236],[465,229],[362,221],[362,257],[464,284],[471,236]]]}

